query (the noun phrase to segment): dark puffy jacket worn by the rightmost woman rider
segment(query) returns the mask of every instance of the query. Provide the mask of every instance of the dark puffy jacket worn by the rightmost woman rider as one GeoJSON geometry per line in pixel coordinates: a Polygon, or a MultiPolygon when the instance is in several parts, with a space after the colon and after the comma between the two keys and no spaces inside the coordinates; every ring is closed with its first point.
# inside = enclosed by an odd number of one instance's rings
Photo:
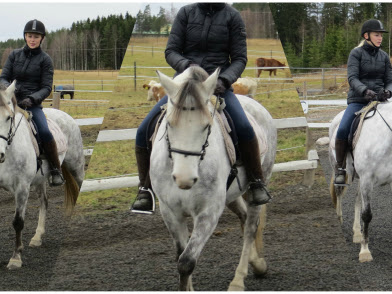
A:
{"type": "Polygon", "coordinates": [[[388,54],[367,42],[354,48],[347,61],[347,78],[350,84],[347,104],[367,104],[364,98],[367,89],[376,93],[383,89],[392,91],[392,67],[388,54]]]}

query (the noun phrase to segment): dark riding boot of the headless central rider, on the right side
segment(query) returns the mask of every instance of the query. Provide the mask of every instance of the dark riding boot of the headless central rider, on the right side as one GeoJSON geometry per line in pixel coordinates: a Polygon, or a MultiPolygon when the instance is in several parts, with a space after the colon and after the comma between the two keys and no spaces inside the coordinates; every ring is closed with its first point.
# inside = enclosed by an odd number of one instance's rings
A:
{"type": "Polygon", "coordinates": [[[260,149],[255,136],[251,141],[240,142],[242,162],[244,164],[246,175],[250,182],[250,193],[248,203],[250,205],[262,205],[271,200],[261,170],[260,149]]]}

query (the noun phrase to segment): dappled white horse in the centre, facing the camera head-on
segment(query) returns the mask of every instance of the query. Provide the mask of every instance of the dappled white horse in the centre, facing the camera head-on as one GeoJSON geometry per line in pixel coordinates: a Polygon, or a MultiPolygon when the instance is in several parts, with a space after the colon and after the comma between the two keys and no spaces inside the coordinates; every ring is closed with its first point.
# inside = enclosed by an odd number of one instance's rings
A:
{"type": "MultiPolygon", "coordinates": [[[[243,167],[238,173],[243,190],[234,181],[226,191],[231,167],[214,105],[209,103],[218,74],[219,70],[208,77],[200,67],[191,67],[172,80],[158,72],[169,102],[153,145],[150,176],[176,246],[180,290],[193,290],[192,272],[226,204],[239,216],[244,228],[242,255],[229,290],[244,290],[248,263],[255,274],[264,274],[267,269],[262,252],[266,207],[248,206],[240,197],[248,188],[243,167]],[[186,222],[189,216],[194,223],[190,237],[186,222]]],[[[268,139],[268,151],[260,158],[268,183],[275,160],[276,128],[260,104],[244,96],[238,99],[248,117],[256,122],[256,134],[263,131],[268,139]]]]}

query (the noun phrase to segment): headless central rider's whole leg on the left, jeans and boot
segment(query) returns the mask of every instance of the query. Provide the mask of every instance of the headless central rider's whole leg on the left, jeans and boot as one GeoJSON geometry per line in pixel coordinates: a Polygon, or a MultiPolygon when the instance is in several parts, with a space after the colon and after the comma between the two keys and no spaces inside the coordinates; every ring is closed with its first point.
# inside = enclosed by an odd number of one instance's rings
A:
{"type": "Polygon", "coordinates": [[[139,171],[139,192],[136,201],[132,204],[131,210],[138,211],[151,211],[153,208],[154,195],[151,195],[151,182],[150,182],[150,152],[148,149],[147,131],[150,121],[161,111],[161,106],[167,103],[167,96],[163,97],[148,113],[137,129],[136,133],[136,162],[139,171]]]}

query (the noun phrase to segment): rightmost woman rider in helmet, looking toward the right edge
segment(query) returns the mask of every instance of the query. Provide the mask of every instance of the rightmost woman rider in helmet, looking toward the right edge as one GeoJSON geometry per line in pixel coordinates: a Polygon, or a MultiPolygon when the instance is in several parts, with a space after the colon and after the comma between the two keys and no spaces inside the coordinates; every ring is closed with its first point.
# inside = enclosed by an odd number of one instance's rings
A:
{"type": "Polygon", "coordinates": [[[364,40],[350,52],[348,57],[347,78],[350,91],[347,96],[348,106],[336,135],[335,150],[338,172],[335,184],[345,184],[344,159],[355,113],[371,100],[378,99],[383,102],[391,98],[391,62],[388,54],[380,49],[383,33],[388,32],[379,20],[365,21],[361,30],[361,36],[364,40]]]}

